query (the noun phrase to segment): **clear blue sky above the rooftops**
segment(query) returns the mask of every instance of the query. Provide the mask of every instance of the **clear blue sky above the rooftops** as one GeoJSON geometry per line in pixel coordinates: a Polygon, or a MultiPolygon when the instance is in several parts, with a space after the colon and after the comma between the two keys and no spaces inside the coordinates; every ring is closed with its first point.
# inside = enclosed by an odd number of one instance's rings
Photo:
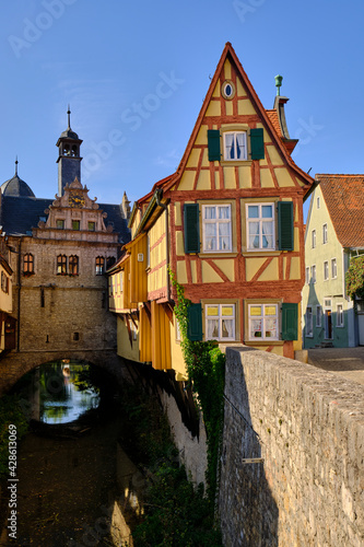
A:
{"type": "Polygon", "coordinates": [[[173,173],[226,42],[263,106],[274,75],[316,173],[363,173],[364,3],[336,0],[13,0],[0,21],[0,182],[57,193],[59,135],[83,139],[82,183],[131,201],[173,173]]]}

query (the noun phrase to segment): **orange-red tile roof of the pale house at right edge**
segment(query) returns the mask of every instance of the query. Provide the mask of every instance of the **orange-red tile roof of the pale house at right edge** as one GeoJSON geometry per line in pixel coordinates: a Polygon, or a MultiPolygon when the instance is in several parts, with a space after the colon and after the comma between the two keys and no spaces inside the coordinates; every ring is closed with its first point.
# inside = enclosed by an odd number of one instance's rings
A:
{"type": "Polygon", "coordinates": [[[364,175],[316,175],[343,247],[364,247],[364,175]]]}

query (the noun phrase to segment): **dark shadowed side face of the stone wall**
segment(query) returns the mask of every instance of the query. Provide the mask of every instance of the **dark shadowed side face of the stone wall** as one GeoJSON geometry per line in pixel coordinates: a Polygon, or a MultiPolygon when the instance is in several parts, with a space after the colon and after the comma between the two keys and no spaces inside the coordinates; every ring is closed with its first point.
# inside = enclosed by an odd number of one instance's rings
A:
{"type": "Polygon", "coordinates": [[[237,357],[226,363],[236,370],[226,374],[226,379],[234,377],[234,385],[225,386],[219,494],[223,539],[226,547],[274,547],[279,510],[267,480],[262,442],[251,423],[249,396],[237,357]]]}

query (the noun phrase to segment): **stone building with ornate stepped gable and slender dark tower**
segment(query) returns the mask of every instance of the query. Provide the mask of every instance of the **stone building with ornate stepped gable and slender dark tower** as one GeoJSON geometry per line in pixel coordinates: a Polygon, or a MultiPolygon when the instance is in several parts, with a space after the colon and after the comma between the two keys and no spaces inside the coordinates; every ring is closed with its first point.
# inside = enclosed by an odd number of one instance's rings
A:
{"type": "MultiPolygon", "coordinates": [[[[17,174],[1,186],[0,224],[13,271],[15,351],[114,349],[107,266],[129,236],[129,201],[96,203],[81,184],[82,140],[70,127],[57,141],[58,194],[35,197],[17,174]]],[[[78,353],[79,354],[79,353],[78,353]]],[[[86,354],[86,353],[84,353],[86,354]]]]}

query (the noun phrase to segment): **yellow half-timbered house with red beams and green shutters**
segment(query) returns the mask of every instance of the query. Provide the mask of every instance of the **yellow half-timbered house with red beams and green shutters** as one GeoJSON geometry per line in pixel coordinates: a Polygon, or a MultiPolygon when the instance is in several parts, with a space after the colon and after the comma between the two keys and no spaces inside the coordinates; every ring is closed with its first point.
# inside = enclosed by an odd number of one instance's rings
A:
{"type": "Polygon", "coordinates": [[[226,44],[176,173],[134,203],[132,240],[110,271],[121,356],[129,340],[132,359],[186,374],[168,266],[192,302],[191,339],[291,358],[302,348],[303,199],[313,179],[291,158],[286,102],[278,92],[266,110],[226,44]]]}

